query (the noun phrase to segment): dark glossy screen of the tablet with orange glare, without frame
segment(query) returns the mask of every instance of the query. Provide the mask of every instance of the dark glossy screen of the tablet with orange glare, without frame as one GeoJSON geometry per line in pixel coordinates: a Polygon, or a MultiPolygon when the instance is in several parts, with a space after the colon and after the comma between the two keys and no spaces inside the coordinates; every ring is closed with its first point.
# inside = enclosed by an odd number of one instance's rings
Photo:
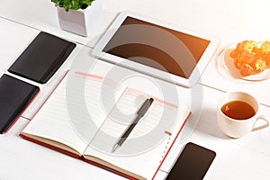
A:
{"type": "Polygon", "coordinates": [[[189,78],[209,43],[210,40],[127,16],[103,52],[189,78]]]}

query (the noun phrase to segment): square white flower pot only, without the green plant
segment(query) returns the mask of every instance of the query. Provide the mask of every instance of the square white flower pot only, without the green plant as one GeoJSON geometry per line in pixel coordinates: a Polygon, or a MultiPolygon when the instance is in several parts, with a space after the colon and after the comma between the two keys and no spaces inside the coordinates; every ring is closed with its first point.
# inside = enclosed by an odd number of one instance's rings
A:
{"type": "Polygon", "coordinates": [[[58,22],[62,30],[88,36],[102,19],[102,0],[95,0],[85,9],[65,11],[58,7],[58,22]]]}

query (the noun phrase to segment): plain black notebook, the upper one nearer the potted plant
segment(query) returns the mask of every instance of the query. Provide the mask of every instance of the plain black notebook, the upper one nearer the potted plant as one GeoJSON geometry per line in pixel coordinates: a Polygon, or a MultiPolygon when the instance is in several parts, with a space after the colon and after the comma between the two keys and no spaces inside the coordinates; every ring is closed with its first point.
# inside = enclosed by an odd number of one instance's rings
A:
{"type": "Polygon", "coordinates": [[[41,84],[47,83],[75,47],[73,42],[40,31],[8,71],[41,84]]]}

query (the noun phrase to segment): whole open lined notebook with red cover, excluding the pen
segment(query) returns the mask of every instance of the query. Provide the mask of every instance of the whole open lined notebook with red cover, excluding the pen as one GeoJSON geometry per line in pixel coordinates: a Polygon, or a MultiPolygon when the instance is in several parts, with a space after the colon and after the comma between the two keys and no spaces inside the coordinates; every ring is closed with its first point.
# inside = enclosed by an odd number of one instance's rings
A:
{"type": "Polygon", "coordinates": [[[148,112],[112,152],[148,97],[102,76],[68,72],[21,136],[128,178],[152,179],[190,112],[151,96],[148,112]]]}

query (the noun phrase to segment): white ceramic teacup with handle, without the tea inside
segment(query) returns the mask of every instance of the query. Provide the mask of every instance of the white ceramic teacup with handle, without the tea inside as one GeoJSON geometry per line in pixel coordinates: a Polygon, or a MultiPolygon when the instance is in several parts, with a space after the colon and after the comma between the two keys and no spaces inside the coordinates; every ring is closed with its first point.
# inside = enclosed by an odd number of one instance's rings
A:
{"type": "MultiPolygon", "coordinates": [[[[243,92],[230,92],[223,94],[218,102],[217,112],[220,129],[231,138],[240,138],[247,135],[251,131],[261,130],[268,127],[268,118],[264,115],[259,115],[258,109],[259,104],[257,103],[257,99],[251,94],[243,92]],[[248,103],[254,109],[254,115],[242,120],[227,116],[221,111],[221,107],[224,104],[233,101],[242,101],[248,103]],[[257,121],[259,120],[263,121],[264,123],[257,125],[257,121]]],[[[236,111],[238,111],[238,109],[236,111]]]]}

